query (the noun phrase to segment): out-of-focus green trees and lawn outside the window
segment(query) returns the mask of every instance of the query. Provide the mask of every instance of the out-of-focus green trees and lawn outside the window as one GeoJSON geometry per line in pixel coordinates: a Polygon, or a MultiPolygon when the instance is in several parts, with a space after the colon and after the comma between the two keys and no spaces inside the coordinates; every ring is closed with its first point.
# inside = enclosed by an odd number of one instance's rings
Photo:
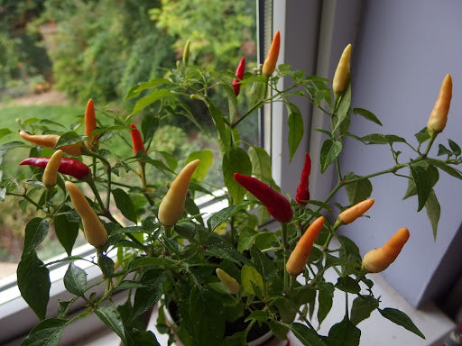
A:
{"type": "MultiPolygon", "coordinates": [[[[181,58],[188,40],[189,63],[234,74],[245,56],[247,70],[255,67],[255,4],[248,0],[0,0],[0,129],[8,129],[0,131],[0,145],[20,141],[17,132],[28,119],[68,127],[81,121],[89,98],[99,114],[109,108],[125,112],[130,107],[125,101],[128,89],[162,77],[164,68],[174,67],[181,58]]],[[[219,104],[221,96],[216,97],[219,104]]],[[[211,125],[205,119],[203,125],[211,125]]],[[[249,139],[256,138],[255,117],[242,125],[249,139]]],[[[191,150],[216,145],[192,123],[175,118],[159,128],[155,142],[156,150],[177,154],[180,162],[191,150]]],[[[16,165],[28,151],[18,148],[14,154],[15,158],[3,159],[0,169],[16,165]]],[[[2,202],[0,261],[18,259],[26,218],[30,214],[19,212],[14,198],[2,202]]],[[[45,243],[42,250],[49,249],[45,243]]]]}

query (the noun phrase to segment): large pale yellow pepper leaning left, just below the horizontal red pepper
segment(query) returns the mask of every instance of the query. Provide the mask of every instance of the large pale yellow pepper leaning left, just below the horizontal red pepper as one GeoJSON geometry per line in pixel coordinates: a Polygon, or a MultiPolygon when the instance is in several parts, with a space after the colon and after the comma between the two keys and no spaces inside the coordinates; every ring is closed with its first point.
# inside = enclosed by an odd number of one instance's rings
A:
{"type": "Polygon", "coordinates": [[[89,205],[85,195],[80,191],[77,185],[70,181],[66,181],[64,185],[68,190],[72,205],[74,205],[75,210],[80,215],[83,232],[85,233],[85,238],[87,238],[88,243],[95,248],[105,245],[107,241],[106,229],[97,217],[97,213],[95,213],[91,205],[89,205]]]}

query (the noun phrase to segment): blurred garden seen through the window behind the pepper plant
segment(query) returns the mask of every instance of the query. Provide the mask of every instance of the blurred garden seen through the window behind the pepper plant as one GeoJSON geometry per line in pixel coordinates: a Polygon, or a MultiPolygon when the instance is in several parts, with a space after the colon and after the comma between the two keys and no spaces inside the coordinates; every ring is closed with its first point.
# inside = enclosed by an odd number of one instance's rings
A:
{"type": "MultiPolygon", "coordinates": [[[[91,98],[97,122],[115,128],[121,120],[131,117],[130,121],[141,129],[141,119],[150,115],[147,118],[152,119],[151,130],[143,131],[143,136],[148,138],[144,144],[151,159],[178,171],[189,153],[208,149],[214,154],[213,165],[219,165],[217,140],[208,134],[212,133],[208,129],[213,123],[202,103],[191,97],[189,109],[171,110],[178,114],[158,127],[156,119],[163,116],[157,112],[159,105],[154,103],[140,114],[131,114],[136,99],[126,96],[140,83],[165,77],[164,68],[172,68],[177,60],[183,59],[187,41],[189,64],[204,66],[207,72],[226,69],[232,76],[243,56],[247,69],[256,67],[255,3],[246,0],[0,2],[0,169],[9,168],[7,174],[3,169],[0,172],[0,278],[14,274],[23,250],[27,220],[44,215],[43,210],[32,204],[18,204],[14,196],[7,196],[11,195],[10,187],[16,179],[23,184],[24,176],[31,176],[31,168],[18,163],[29,156],[50,157],[53,152],[47,148],[32,149],[18,132],[83,134],[83,114],[91,98]],[[177,164],[171,163],[167,153],[179,158],[177,164]],[[13,167],[15,175],[10,176],[13,167]]],[[[244,93],[249,91],[243,88],[244,93]]],[[[219,93],[212,97],[218,105],[227,102],[219,93]]],[[[238,102],[246,101],[243,97],[238,102]]],[[[246,117],[239,124],[239,131],[244,143],[257,143],[257,114],[246,117]]],[[[125,152],[129,146],[123,144],[131,141],[130,131],[120,133],[104,133],[99,149],[117,153],[121,150],[120,157],[129,156],[130,152],[125,152]],[[114,141],[111,147],[105,147],[105,138],[111,136],[119,137],[120,149],[114,141]]],[[[91,159],[85,162],[91,164],[91,159]]],[[[124,162],[112,164],[115,169],[125,169],[124,162]]],[[[146,180],[152,188],[156,182],[171,178],[153,165],[146,167],[146,180]]],[[[35,180],[23,184],[23,193],[36,191],[32,199],[44,198],[39,188],[42,171],[32,172],[35,180]]],[[[208,170],[205,182],[210,189],[222,187],[223,178],[218,174],[217,167],[208,170]]],[[[115,179],[114,184],[124,187],[123,178],[115,179]]],[[[46,240],[37,248],[39,257],[52,258],[64,252],[56,237],[51,223],[46,240]]],[[[81,232],[77,243],[85,243],[81,232]]]]}

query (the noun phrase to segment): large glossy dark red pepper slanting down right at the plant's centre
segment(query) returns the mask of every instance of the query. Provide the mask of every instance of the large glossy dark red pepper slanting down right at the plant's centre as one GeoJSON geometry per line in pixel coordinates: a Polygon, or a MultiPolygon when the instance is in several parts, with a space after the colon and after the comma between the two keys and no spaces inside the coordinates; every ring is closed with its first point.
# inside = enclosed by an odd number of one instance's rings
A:
{"type": "Polygon", "coordinates": [[[291,221],[293,210],[291,203],[286,197],[256,178],[235,173],[235,180],[262,202],[268,210],[268,213],[277,221],[281,223],[288,223],[291,221]]]}

